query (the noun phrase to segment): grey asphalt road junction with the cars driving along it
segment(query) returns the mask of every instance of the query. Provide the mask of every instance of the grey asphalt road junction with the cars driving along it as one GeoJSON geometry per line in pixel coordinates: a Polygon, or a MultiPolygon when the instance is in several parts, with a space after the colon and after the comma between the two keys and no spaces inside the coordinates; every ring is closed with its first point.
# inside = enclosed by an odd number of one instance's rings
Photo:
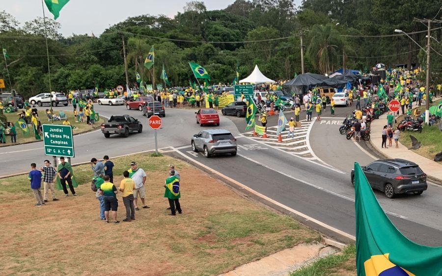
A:
{"type": "MultiPolygon", "coordinates": [[[[199,160],[275,201],[355,235],[354,189],[349,172],[355,161],[365,165],[373,159],[361,150],[366,150],[363,144],[359,148],[338,132],[337,121],[352,109],[337,107],[336,118],[331,119],[324,118],[330,117],[330,111],[327,110],[323,115],[325,123],[315,122],[311,126],[311,149],[323,162],[290,155],[272,144],[246,137],[241,134],[245,132],[244,118],[234,116],[220,116],[221,126],[215,128],[229,129],[238,137],[238,155],[204,158],[188,147],[190,139],[201,129],[213,127],[200,127],[194,123],[193,110],[166,109],[163,127],[158,130],[159,148],[179,148],[189,158],[199,160]],[[332,120],[336,121],[336,125],[332,120]]],[[[101,158],[105,154],[112,157],[154,149],[153,130],[140,111],[126,110],[124,106],[98,105],[96,110],[101,116],[107,117],[129,114],[142,122],[144,130],[129,138],[111,136],[106,139],[101,131],[76,135],[76,157],[72,163],[86,162],[92,157],[101,158]]],[[[286,117],[290,118],[291,113],[288,112],[286,117]]],[[[276,125],[276,121],[277,116],[271,116],[268,125],[276,125]]],[[[45,158],[41,142],[1,148],[0,175],[26,172],[30,162],[40,164],[45,158]]],[[[375,194],[395,226],[407,237],[421,244],[442,245],[441,187],[430,185],[429,190],[421,196],[405,195],[393,200],[385,198],[382,193],[375,194]]],[[[304,223],[309,224],[307,221],[304,223]]]]}

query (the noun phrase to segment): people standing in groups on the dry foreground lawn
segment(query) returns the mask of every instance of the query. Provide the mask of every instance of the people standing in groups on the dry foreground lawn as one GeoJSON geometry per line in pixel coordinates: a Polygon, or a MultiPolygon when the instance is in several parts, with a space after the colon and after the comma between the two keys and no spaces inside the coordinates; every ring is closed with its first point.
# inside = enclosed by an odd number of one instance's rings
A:
{"type": "MultiPolygon", "coordinates": [[[[92,158],[90,161],[91,170],[93,172],[93,180],[91,190],[95,192],[95,197],[99,201],[99,218],[100,220],[110,222],[110,218],[114,224],[120,221],[117,219],[118,198],[117,194],[122,193],[122,201],[126,209],[126,217],[124,222],[135,220],[135,211],[140,208],[150,208],[146,204],[146,179],[147,174],[141,168],[138,168],[136,161],[130,163],[130,169],[123,172],[123,179],[120,184],[115,186],[113,183],[114,164],[108,155],[103,157],[103,161],[92,158]],[[138,205],[138,198],[141,205],[138,205]],[[111,215],[111,217],[110,217],[111,215]]],[[[53,201],[58,201],[55,195],[55,188],[62,190],[64,196],[69,196],[69,191],[73,196],[77,196],[75,188],[78,187],[77,180],[74,176],[73,169],[64,157],[60,157],[60,163],[55,169],[49,160],[44,160],[44,166],[37,169],[35,163],[30,164],[31,170],[28,174],[30,188],[35,198],[35,206],[44,206],[48,202],[49,191],[53,201]],[[41,183],[43,182],[44,194],[41,193],[41,183]]],[[[168,176],[165,180],[164,197],[167,198],[171,216],[175,216],[176,212],[182,214],[179,199],[181,198],[180,180],[181,176],[175,169],[174,165],[168,165],[168,176]]]]}

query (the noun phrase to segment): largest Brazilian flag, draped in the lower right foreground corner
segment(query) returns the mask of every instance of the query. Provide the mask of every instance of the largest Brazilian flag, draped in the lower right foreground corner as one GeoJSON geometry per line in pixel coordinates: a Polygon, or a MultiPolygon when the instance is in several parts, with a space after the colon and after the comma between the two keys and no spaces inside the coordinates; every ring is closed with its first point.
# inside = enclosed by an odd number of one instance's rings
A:
{"type": "Polygon", "coordinates": [[[402,235],[379,205],[355,163],[356,267],[358,276],[442,276],[442,247],[402,235]]]}

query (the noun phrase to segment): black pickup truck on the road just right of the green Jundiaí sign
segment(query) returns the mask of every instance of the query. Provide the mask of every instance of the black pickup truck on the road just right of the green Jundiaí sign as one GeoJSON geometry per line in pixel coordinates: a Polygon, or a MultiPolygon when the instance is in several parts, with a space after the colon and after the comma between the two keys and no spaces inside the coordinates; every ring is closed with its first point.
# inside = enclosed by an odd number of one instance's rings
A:
{"type": "Polygon", "coordinates": [[[106,138],[111,137],[111,134],[121,134],[128,137],[130,132],[135,131],[141,133],[143,125],[129,115],[113,115],[107,123],[101,124],[101,132],[106,138]]]}

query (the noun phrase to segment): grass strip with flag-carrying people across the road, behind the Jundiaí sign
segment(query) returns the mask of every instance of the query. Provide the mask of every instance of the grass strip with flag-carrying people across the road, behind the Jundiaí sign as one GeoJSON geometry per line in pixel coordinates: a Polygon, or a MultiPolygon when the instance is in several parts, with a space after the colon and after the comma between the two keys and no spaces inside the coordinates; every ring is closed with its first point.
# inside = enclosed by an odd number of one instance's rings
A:
{"type": "MultiPolygon", "coordinates": [[[[44,125],[44,124],[51,124],[51,122],[48,122],[48,117],[46,117],[44,112],[45,112],[44,110],[39,110],[41,124],[42,125],[44,125]]],[[[74,135],[82,133],[82,132],[85,132],[85,131],[88,131],[88,130],[91,130],[91,129],[98,129],[98,128],[100,128],[101,124],[104,122],[103,119],[100,118],[100,121],[99,122],[95,122],[95,126],[91,127],[90,125],[86,125],[86,123],[77,123],[77,122],[75,122],[75,120],[74,120],[74,112],[72,112],[72,111],[64,111],[64,113],[66,114],[66,116],[67,116],[67,118],[69,120],[69,123],[71,123],[71,125],[73,126],[72,132],[74,133],[74,135]]],[[[18,112],[6,113],[5,116],[6,116],[7,121],[8,122],[13,122],[13,123],[17,122],[17,120],[18,120],[17,114],[18,114],[18,112]]],[[[55,112],[55,114],[58,115],[57,112],[55,112]]],[[[63,124],[63,121],[54,121],[54,125],[62,125],[62,124],[63,124]]],[[[23,144],[23,143],[29,143],[29,142],[37,141],[37,140],[35,140],[34,133],[32,132],[32,126],[31,125],[28,125],[28,126],[29,126],[29,135],[28,135],[28,137],[25,137],[23,135],[23,131],[20,130],[18,127],[16,127],[16,130],[17,130],[17,143],[23,144]]],[[[41,134],[40,134],[40,137],[43,138],[43,136],[41,134]]],[[[6,144],[0,144],[0,147],[9,146],[9,145],[11,145],[10,142],[11,142],[11,138],[8,135],[6,135],[6,144]]]]}

